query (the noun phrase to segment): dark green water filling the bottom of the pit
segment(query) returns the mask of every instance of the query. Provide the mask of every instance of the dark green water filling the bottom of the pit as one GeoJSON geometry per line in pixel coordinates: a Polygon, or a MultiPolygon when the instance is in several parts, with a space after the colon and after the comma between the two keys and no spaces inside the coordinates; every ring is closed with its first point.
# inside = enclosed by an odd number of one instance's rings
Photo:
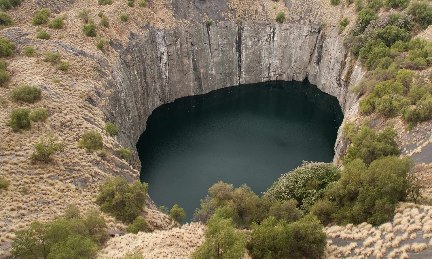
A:
{"type": "MultiPolygon", "coordinates": [[[[190,221],[213,183],[260,194],[303,160],[331,162],[343,114],[309,82],[266,82],[180,98],[153,111],[137,142],[156,205],[190,221]]],[[[184,222],[185,222],[184,221],[184,222]]]]}

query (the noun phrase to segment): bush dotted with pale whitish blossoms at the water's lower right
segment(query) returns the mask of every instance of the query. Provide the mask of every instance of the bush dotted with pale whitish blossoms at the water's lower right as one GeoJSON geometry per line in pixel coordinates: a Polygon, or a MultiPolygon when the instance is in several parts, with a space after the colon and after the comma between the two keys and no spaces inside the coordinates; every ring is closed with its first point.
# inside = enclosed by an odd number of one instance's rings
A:
{"type": "Polygon", "coordinates": [[[283,174],[263,195],[281,201],[294,199],[307,211],[323,195],[327,185],[337,181],[339,176],[340,170],[332,163],[303,161],[300,167],[283,174]]]}

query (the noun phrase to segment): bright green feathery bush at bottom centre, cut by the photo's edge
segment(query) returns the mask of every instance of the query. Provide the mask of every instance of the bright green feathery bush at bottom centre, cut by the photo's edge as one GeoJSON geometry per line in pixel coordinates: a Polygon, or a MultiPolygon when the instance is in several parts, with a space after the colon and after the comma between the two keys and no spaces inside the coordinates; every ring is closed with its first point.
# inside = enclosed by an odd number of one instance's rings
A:
{"type": "Polygon", "coordinates": [[[206,225],[206,240],[194,250],[191,259],[241,258],[244,255],[246,236],[236,230],[232,219],[213,215],[206,225]]]}

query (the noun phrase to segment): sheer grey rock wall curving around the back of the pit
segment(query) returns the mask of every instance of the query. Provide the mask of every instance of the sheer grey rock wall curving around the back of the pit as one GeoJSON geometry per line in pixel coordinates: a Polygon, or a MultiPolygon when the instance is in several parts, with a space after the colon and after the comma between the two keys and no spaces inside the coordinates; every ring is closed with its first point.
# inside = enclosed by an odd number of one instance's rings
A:
{"type": "MultiPolygon", "coordinates": [[[[188,95],[239,84],[268,80],[308,79],[323,92],[338,98],[345,114],[356,114],[356,97],[349,82],[358,83],[360,66],[350,58],[337,31],[321,31],[318,25],[273,22],[213,22],[182,28],[149,28],[120,51],[107,80],[107,119],[119,127],[118,140],[133,150],[146,129],[146,120],[162,104],[188,95]]],[[[346,143],[341,130],[334,162],[346,143]]]]}

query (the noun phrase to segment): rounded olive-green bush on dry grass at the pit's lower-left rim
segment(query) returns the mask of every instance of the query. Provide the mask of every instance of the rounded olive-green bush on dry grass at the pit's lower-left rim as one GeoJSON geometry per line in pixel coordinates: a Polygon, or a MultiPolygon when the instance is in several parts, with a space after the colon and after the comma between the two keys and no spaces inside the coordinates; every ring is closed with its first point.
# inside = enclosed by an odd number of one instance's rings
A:
{"type": "Polygon", "coordinates": [[[107,179],[99,187],[96,203],[102,212],[107,212],[125,222],[132,222],[142,212],[147,198],[148,183],[135,180],[129,185],[126,179],[117,176],[107,179]]]}

